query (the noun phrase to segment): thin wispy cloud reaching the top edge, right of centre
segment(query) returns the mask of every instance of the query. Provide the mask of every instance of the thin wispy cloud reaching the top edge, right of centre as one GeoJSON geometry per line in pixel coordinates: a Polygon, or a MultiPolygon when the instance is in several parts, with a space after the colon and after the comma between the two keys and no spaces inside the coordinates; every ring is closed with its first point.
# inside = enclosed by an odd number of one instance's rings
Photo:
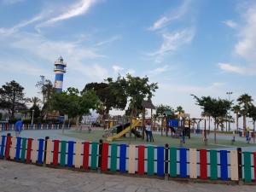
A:
{"type": "Polygon", "coordinates": [[[181,17],[183,17],[183,15],[187,13],[190,2],[191,2],[190,0],[184,0],[182,5],[179,8],[177,8],[176,10],[172,10],[172,13],[169,15],[164,15],[160,17],[160,19],[156,20],[153,26],[150,26],[148,30],[150,31],[158,30],[168,25],[172,20],[180,19],[181,17]]]}

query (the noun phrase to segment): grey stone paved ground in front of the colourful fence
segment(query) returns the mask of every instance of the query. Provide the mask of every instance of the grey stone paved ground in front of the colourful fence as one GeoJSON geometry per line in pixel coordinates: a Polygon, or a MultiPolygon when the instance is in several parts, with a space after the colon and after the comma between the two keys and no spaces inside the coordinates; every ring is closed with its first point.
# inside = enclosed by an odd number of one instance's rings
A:
{"type": "Polygon", "coordinates": [[[156,178],[75,172],[0,160],[0,191],[245,192],[256,191],[256,186],[163,181],[156,178]]]}

